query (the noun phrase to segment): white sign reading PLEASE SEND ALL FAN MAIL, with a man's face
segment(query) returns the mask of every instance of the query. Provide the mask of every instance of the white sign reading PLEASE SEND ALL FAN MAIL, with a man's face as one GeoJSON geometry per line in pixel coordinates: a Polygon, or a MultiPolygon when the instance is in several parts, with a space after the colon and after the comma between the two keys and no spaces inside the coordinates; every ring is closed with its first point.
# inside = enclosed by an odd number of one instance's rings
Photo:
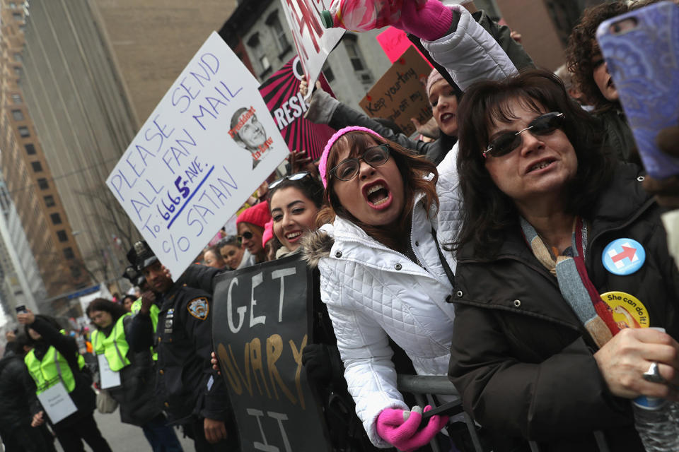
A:
{"type": "Polygon", "coordinates": [[[289,153],[257,88],[212,32],[106,180],[175,280],[289,153]]]}

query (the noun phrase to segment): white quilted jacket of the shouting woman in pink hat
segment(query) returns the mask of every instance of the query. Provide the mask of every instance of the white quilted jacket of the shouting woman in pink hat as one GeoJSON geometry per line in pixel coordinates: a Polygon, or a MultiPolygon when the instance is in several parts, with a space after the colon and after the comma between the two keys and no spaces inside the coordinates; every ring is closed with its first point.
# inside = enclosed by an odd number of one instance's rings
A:
{"type": "MultiPolygon", "coordinates": [[[[455,153],[441,162],[439,214],[426,218],[420,196],[412,214],[411,244],[422,267],[369,237],[352,222],[337,218],[322,231],[334,237],[330,255],[320,259],[320,290],[335,327],[344,361],[344,378],[356,401],[356,413],[373,444],[390,447],[375,422],[385,408],[408,407],[396,388],[390,336],[412,359],[417,374],[446,375],[453,335],[453,287],[441,264],[431,227],[449,242],[458,226],[455,153]],[[452,162],[452,165],[451,165],[452,162]],[[424,268],[423,268],[424,267],[424,268]]],[[[441,249],[451,269],[450,251],[441,249]]]]}

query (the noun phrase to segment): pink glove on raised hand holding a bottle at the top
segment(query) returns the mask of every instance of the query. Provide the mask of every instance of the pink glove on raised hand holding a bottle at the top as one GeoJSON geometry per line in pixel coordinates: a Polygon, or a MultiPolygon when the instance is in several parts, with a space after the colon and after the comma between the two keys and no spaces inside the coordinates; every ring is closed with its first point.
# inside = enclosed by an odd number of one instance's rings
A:
{"type": "Polygon", "coordinates": [[[436,41],[448,33],[453,13],[439,0],[429,0],[424,6],[415,0],[403,0],[401,17],[393,26],[427,41],[436,41]]]}

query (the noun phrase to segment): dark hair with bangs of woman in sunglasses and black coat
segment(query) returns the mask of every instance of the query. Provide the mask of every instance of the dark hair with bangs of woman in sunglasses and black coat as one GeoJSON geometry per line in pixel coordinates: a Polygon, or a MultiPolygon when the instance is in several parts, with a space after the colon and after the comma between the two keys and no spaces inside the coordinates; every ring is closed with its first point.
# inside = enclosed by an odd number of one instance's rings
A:
{"type": "Polygon", "coordinates": [[[514,99],[521,100],[524,107],[536,113],[562,112],[565,116],[562,130],[578,159],[577,172],[566,187],[564,208],[567,213],[591,218],[593,200],[610,178],[602,149],[600,122],[570,99],[557,76],[533,69],[504,81],[472,85],[458,109],[458,173],[463,222],[453,243],[455,249],[473,242],[477,255],[491,257],[504,234],[518,225],[516,206],[494,184],[482,155],[489,143],[489,126],[516,119],[516,114],[509,108],[509,101],[514,99]]]}

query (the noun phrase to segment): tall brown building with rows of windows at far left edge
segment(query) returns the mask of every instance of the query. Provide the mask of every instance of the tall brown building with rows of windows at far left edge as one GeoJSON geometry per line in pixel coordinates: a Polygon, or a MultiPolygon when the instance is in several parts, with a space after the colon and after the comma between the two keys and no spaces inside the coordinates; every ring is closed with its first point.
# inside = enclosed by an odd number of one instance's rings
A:
{"type": "MultiPolygon", "coordinates": [[[[6,219],[13,218],[14,237],[18,234],[16,220],[21,222],[37,263],[39,275],[30,275],[35,283],[31,292],[40,294],[44,284],[45,295],[54,297],[87,285],[89,278],[83,271],[79,246],[72,237],[69,216],[56,189],[57,179],[65,173],[48,162],[18,85],[23,76],[25,15],[25,3],[1,0],[1,167],[6,184],[3,190],[13,201],[4,210],[8,213],[16,210],[16,217],[8,215],[6,219]]],[[[27,258],[23,261],[30,263],[27,258]]],[[[6,268],[3,271],[5,280],[16,275],[6,268]]],[[[10,290],[16,292],[16,288],[10,290]]]]}

